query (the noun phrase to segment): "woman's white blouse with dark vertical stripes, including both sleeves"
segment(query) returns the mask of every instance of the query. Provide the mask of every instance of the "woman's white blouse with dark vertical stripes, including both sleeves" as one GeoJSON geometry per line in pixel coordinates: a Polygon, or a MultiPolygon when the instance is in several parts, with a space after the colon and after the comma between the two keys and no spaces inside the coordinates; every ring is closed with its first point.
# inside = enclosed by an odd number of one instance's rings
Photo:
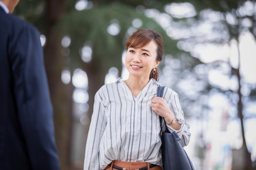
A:
{"type": "MultiPolygon", "coordinates": [[[[84,170],[104,170],[112,160],[149,162],[162,166],[159,115],[150,108],[158,82],[151,79],[135,98],[122,78],[105,84],[95,94],[86,143],[84,170]]],[[[186,146],[190,126],[184,120],[178,94],[166,88],[167,105],[181,124],[175,131],[186,146]]],[[[162,126],[164,129],[164,126],[162,126]]]]}

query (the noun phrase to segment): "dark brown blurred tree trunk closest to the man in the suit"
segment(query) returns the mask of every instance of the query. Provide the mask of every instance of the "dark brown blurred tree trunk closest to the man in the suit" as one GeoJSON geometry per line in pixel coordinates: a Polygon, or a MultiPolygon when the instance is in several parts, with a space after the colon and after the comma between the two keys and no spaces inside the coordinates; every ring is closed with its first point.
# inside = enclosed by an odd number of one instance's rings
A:
{"type": "Polygon", "coordinates": [[[63,8],[64,0],[46,0],[44,62],[54,109],[55,136],[60,165],[62,170],[69,170],[72,90],[68,90],[70,87],[61,81],[65,58],[61,55],[61,37],[58,35],[58,31],[54,29],[56,22],[62,15],[63,8]]]}

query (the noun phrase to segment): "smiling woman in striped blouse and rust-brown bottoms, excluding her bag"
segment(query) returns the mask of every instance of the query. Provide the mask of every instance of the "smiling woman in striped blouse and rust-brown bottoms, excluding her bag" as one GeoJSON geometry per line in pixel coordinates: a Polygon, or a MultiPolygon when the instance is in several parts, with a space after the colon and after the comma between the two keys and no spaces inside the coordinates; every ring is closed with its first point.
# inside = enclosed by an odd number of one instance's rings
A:
{"type": "Polygon", "coordinates": [[[156,97],[162,37],[139,29],[128,38],[126,48],[128,79],[118,78],[95,95],[84,170],[162,170],[159,115],[180,136],[182,146],[189,143],[189,125],[178,94],[166,88],[164,98],[156,97]]]}

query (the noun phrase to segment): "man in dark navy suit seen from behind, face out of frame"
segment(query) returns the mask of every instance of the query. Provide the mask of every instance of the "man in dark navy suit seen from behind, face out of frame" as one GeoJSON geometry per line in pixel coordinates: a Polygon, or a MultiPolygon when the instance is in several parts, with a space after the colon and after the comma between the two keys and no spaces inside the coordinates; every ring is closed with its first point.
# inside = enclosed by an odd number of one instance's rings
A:
{"type": "Polygon", "coordinates": [[[42,45],[18,1],[0,0],[0,170],[60,170],[42,45]]]}

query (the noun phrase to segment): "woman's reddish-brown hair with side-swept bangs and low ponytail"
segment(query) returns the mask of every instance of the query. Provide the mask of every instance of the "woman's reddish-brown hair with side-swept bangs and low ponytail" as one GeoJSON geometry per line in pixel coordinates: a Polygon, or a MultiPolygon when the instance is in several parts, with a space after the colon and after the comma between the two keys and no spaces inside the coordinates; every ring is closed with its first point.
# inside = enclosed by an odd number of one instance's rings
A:
{"type": "MultiPolygon", "coordinates": [[[[151,29],[139,29],[138,31],[134,32],[126,41],[126,50],[130,47],[142,48],[148,45],[148,43],[150,43],[152,40],[154,40],[157,45],[156,61],[161,61],[164,51],[162,36],[151,29]]],[[[160,77],[159,70],[156,68],[155,74],[152,71],[153,69],[150,72],[149,79],[154,78],[156,81],[158,81],[160,77]]]]}

